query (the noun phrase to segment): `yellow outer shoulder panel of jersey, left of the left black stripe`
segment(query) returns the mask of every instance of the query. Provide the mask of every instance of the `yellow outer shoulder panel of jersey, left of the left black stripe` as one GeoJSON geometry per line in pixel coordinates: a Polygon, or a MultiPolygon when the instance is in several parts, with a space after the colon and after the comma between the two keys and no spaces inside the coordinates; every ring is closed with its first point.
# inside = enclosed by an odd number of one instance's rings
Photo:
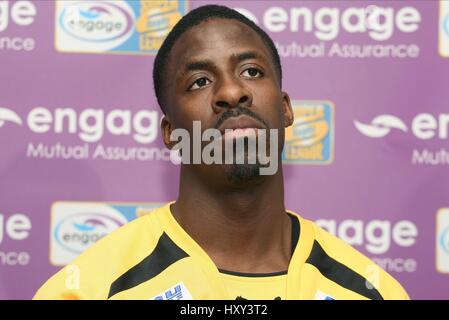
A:
{"type": "Polygon", "coordinates": [[[35,298],[107,298],[110,284],[155,250],[164,232],[161,214],[164,208],[155,209],[100,239],[52,276],[35,298]],[[74,289],[67,288],[72,278],[77,280],[74,289]]]}

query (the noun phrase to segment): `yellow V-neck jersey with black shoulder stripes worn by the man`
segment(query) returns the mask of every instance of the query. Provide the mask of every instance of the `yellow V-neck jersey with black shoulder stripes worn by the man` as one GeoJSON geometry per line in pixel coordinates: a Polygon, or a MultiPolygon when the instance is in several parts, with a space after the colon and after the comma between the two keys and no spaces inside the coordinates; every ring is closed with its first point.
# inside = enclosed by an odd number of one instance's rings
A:
{"type": "Polygon", "coordinates": [[[220,270],[182,229],[170,203],[98,241],[50,278],[35,299],[408,299],[360,252],[288,212],[293,254],[285,272],[220,270]]]}

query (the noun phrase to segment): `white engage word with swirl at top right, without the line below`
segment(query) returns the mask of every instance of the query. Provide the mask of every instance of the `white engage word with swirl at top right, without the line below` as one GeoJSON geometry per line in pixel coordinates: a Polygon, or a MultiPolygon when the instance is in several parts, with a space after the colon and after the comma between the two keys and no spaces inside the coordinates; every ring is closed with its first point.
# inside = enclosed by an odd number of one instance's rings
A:
{"type": "MultiPolygon", "coordinates": [[[[351,3],[351,2],[349,2],[351,3]]],[[[313,33],[319,40],[335,40],[340,33],[365,33],[376,41],[389,40],[394,32],[412,33],[419,29],[421,14],[414,7],[269,7],[262,18],[247,8],[235,8],[269,32],[313,33]]]]}

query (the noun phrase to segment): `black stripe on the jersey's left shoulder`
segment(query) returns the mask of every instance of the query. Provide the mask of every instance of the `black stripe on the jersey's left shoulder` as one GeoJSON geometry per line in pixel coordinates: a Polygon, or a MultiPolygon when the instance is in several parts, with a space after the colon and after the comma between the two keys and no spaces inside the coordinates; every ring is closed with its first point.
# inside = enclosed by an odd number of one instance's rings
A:
{"type": "Polygon", "coordinates": [[[121,291],[131,289],[154,278],[176,261],[188,256],[164,232],[159,238],[156,248],[148,257],[126,271],[112,283],[109,289],[108,299],[121,291]]]}

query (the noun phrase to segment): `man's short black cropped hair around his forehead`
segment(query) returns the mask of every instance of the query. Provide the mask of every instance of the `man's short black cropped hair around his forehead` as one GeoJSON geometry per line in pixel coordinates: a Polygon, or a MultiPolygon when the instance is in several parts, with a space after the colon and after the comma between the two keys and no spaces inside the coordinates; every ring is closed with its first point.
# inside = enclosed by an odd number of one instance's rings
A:
{"type": "Polygon", "coordinates": [[[159,106],[161,107],[162,112],[165,113],[162,101],[163,100],[162,93],[163,93],[164,79],[166,76],[165,75],[167,67],[166,64],[171,49],[173,48],[173,45],[184,32],[186,32],[193,26],[196,26],[201,22],[211,18],[234,19],[246,24],[251,29],[256,31],[257,34],[262,38],[262,41],[271,51],[274,66],[279,76],[279,84],[282,86],[281,59],[279,58],[279,53],[276,49],[276,46],[273,43],[273,40],[271,40],[270,36],[265,31],[263,31],[259,26],[257,26],[253,21],[251,21],[250,19],[248,19],[247,17],[245,17],[243,14],[239,13],[236,10],[219,5],[205,5],[190,11],[184,17],[182,17],[181,20],[178,21],[178,23],[173,27],[173,29],[165,38],[164,42],[162,43],[156,55],[153,66],[153,84],[154,84],[154,91],[156,93],[156,98],[159,103],[159,106]]]}

